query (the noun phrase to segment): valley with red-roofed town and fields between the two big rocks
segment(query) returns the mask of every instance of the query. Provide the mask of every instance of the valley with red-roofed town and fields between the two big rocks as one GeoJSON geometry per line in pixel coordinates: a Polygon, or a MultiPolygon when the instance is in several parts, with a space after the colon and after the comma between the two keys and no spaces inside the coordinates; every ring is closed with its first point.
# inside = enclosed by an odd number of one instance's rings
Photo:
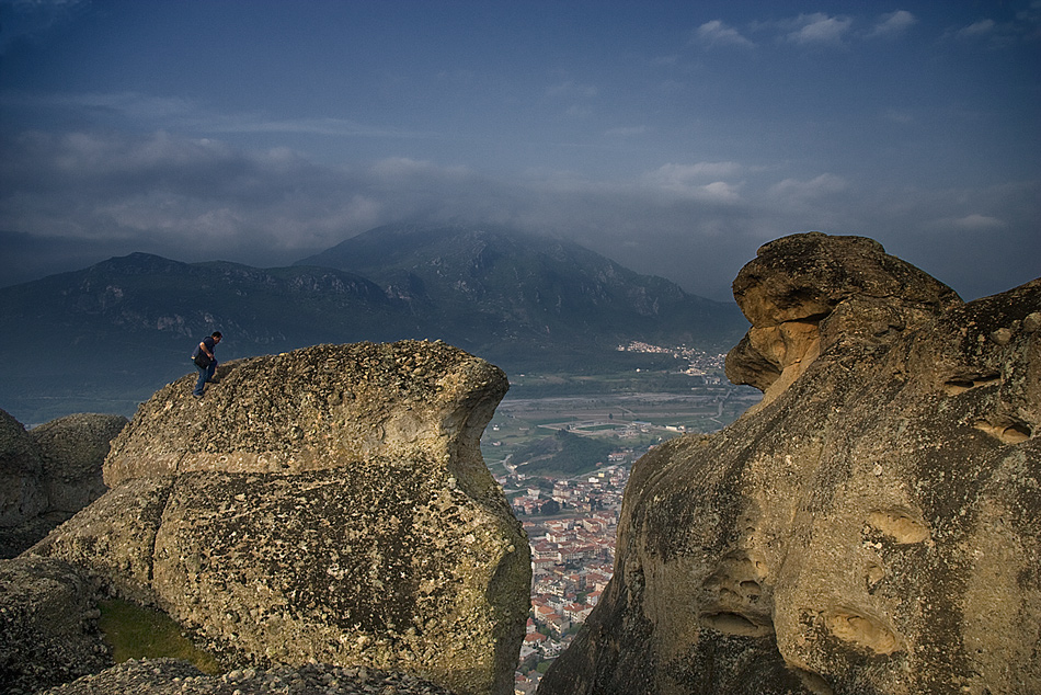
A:
{"type": "MultiPolygon", "coordinates": [[[[661,384],[661,374],[641,374],[625,389],[617,388],[614,376],[599,390],[581,384],[584,392],[579,395],[550,389],[558,395],[540,397],[520,389],[520,397],[502,401],[481,442],[531,550],[531,604],[515,674],[518,695],[535,692],[610,580],[618,515],[633,464],[667,438],[721,429],[760,397],[727,380],[723,355],[648,343],[618,350],[674,358],[668,389],[639,388],[640,379],[661,384]]],[[[536,375],[516,380],[553,381],[536,375]]]]}

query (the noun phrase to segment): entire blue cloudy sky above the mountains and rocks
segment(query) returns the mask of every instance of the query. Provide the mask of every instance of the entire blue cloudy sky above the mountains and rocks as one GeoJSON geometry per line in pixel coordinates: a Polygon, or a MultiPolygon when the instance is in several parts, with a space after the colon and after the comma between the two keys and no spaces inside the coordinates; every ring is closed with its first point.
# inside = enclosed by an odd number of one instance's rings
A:
{"type": "Polygon", "coordinates": [[[0,286],[392,223],[730,300],[763,243],[1041,276],[1041,1],[0,0],[0,286]]]}

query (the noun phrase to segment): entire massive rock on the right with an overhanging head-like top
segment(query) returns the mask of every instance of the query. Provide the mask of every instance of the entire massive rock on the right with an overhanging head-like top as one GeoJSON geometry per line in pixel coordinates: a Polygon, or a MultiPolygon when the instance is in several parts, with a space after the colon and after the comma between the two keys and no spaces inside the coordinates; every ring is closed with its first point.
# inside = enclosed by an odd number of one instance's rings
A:
{"type": "Polygon", "coordinates": [[[766,402],[636,465],[539,693],[1041,692],[1041,280],[962,304],[810,233],[734,294],[766,402]]]}

